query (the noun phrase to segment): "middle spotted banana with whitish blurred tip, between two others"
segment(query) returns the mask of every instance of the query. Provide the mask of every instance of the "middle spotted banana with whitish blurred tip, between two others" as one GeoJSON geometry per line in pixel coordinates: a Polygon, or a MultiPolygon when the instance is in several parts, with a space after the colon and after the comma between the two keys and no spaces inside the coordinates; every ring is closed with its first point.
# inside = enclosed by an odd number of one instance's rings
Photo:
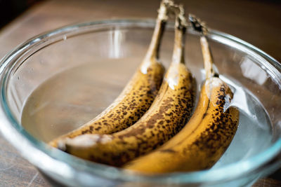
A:
{"type": "Polygon", "coordinates": [[[195,102],[195,79],[184,64],[186,22],[177,16],[172,62],[150,109],[137,123],[114,134],[65,139],[60,149],[86,160],[121,166],[164,144],[181,130],[195,102]]]}

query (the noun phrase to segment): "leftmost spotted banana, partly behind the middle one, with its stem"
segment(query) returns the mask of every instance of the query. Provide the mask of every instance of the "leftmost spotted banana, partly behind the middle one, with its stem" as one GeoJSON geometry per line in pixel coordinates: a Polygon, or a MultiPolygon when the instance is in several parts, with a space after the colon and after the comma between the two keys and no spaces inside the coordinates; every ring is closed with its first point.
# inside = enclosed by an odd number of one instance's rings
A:
{"type": "Polygon", "coordinates": [[[155,99],[164,75],[164,67],[159,62],[159,46],[170,4],[173,4],[173,1],[162,1],[148,52],[119,97],[89,123],[53,139],[49,145],[57,147],[61,139],[81,134],[112,134],[133,125],[143,116],[155,99]]]}

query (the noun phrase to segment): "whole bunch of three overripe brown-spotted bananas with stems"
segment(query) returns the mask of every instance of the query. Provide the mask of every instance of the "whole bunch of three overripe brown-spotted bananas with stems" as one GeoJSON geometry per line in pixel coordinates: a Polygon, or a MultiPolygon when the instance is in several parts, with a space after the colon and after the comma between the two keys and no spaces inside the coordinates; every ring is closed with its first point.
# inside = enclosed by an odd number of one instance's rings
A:
{"type": "Polygon", "coordinates": [[[183,6],[164,0],[148,53],[122,94],[89,123],[50,144],[79,158],[136,172],[186,172],[214,165],[235,135],[239,111],[230,104],[232,90],[214,73],[207,28],[192,15],[189,20],[200,32],[206,71],[193,114],[196,82],[184,57],[188,23],[183,6]],[[174,52],[162,80],[159,43],[169,13],[176,15],[174,52]]]}

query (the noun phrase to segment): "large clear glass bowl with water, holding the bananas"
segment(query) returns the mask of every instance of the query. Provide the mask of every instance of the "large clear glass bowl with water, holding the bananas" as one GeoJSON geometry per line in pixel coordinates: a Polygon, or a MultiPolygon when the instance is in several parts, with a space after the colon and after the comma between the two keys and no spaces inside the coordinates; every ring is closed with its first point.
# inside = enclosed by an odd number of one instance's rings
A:
{"type": "MultiPolygon", "coordinates": [[[[55,29],[1,60],[0,130],[53,183],[67,186],[246,186],[281,164],[281,66],[240,39],[211,30],[216,71],[235,92],[240,125],[226,153],[198,172],[148,176],[81,160],[45,142],[103,111],[141,63],[154,20],[104,20],[55,29]]],[[[160,58],[171,62],[174,25],[160,58]]],[[[199,36],[188,28],[185,62],[204,80],[199,36]]]]}

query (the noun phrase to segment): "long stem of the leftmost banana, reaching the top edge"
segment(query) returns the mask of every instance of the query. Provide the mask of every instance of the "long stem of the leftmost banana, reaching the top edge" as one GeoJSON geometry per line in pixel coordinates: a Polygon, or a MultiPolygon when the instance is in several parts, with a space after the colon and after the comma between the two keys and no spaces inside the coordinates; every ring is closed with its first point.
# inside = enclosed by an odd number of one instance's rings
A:
{"type": "Polygon", "coordinates": [[[152,40],[150,42],[148,52],[145,55],[146,61],[159,58],[159,48],[161,44],[161,39],[164,34],[164,27],[166,25],[166,20],[168,20],[169,4],[172,3],[173,1],[171,0],[163,0],[160,4],[155,30],[152,35],[152,40]]]}

